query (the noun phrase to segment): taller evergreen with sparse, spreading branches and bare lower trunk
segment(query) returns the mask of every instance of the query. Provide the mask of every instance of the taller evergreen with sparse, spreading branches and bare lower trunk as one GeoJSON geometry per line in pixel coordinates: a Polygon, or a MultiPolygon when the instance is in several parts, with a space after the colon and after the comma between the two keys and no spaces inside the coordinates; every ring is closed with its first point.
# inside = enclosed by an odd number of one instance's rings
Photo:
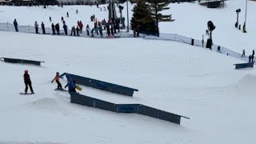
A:
{"type": "Polygon", "coordinates": [[[160,12],[162,10],[169,10],[170,7],[167,7],[171,2],[170,0],[146,0],[150,3],[150,11],[151,16],[154,19],[154,22],[157,27],[157,36],[159,37],[159,27],[158,22],[173,22],[174,20],[171,19],[171,14],[164,15],[160,12]]]}

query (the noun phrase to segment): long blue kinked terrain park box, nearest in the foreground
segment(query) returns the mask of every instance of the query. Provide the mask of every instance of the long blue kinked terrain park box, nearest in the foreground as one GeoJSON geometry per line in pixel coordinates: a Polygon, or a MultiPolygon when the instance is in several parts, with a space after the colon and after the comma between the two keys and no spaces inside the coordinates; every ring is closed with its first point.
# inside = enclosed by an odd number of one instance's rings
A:
{"type": "Polygon", "coordinates": [[[150,106],[144,106],[141,104],[115,104],[72,92],[70,92],[70,102],[83,106],[98,108],[101,110],[109,110],[116,113],[142,114],[149,117],[162,119],[168,122],[174,122],[178,125],[180,125],[181,123],[181,118],[187,118],[182,115],[166,112],[164,110],[158,110],[150,106]]]}

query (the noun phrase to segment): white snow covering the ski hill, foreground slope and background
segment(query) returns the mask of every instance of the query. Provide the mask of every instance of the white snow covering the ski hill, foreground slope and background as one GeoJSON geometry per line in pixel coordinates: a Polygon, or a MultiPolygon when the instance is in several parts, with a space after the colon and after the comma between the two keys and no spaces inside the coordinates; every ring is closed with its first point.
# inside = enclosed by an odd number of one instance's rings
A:
{"type": "MultiPolygon", "coordinates": [[[[229,3],[230,6],[236,6],[240,2],[229,3]]],[[[190,10],[197,4],[177,4],[182,5],[190,6],[186,8],[190,10]]],[[[51,7],[49,10],[52,11],[47,13],[51,14],[52,18],[60,19],[67,10],[73,9],[75,12],[74,7],[65,6],[63,14],[58,14],[61,8],[51,7]]],[[[106,16],[100,10],[93,11],[96,8],[77,7],[79,14],[87,14],[87,19],[82,19],[82,22],[89,22],[93,13],[99,18],[106,16]]],[[[197,7],[202,11],[209,10],[197,7]]],[[[40,8],[33,14],[32,9],[0,6],[0,22],[12,22],[17,18],[20,25],[32,25],[34,20],[40,22],[39,18],[48,20],[49,16],[44,15],[40,8]],[[13,14],[17,15],[14,17],[13,14]]],[[[182,10],[180,7],[180,11],[182,10]]],[[[73,17],[70,23],[75,24],[77,19],[80,20],[79,16],[70,12],[70,18],[73,17]]],[[[175,19],[178,23],[179,19],[175,19]]],[[[182,17],[180,19],[182,20],[182,17]]],[[[174,26],[175,22],[168,25],[174,26]]],[[[168,26],[162,25],[161,30],[169,29],[168,26]]],[[[216,26],[218,29],[217,24],[216,26]]],[[[230,29],[231,26],[233,24],[230,29]]],[[[180,30],[182,33],[182,29],[185,29],[183,25],[174,30],[180,30]]],[[[214,31],[216,34],[217,29],[214,31]]],[[[202,27],[202,33],[204,31],[205,28],[202,27]]],[[[191,29],[183,34],[194,32],[191,29]]],[[[217,42],[216,34],[214,38],[217,42]]],[[[242,32],[238,31],[238,34],[242,32]]],[[[254,41],[253,34],[248,33],[248,36],[254,41]]],[[[234,43],[239,44],[239,36],[230,35],[230,38],[234,38],[234,43]]],[[[233,64],[241,62],[238,59],[178,42],[140,38],[74,38],[0,31],[0,41],[0,57],[46,62],[42,66],[31,66],[0,61],[0,143],[256,142],[256,71],[234,70],[233,64]],[[24,70],[29,70],[36,93],[34,95],[18,94],[24,90],[24,70]],[[115,114],[72,104],[69,94],[54,91],[57,84],[50,81],[56,71],[83,75],[139,90],[130,98],[84,86],[82,94],[115,103],[142,103],[184,115],[190,120],[182,119],[179,126],[138,114],[115,114]]],[[[230,40],[225,42],[231,43],[230,40]]],[[[61,82],[62,85],[66,84],[65,79],[61,82]]]]}

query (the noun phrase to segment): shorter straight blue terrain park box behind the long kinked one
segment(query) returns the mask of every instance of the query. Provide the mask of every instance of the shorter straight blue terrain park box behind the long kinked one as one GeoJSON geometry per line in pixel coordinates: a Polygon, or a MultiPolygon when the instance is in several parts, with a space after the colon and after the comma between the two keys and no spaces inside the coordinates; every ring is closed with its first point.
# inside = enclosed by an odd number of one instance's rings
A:
{"type": "MultiPolygon", "coordinates": [[[[66,74],[67,73],[61,74],[60,78],[62,78],[66,74]]],[[[103,82],[103,81],[99,81],[99,80],[96,80],[93,78],[86,78],[86,77],[82,77],[82,76],[78,76],[78,75],[74,75],[74,74],[70,74],[70,76],[72,78],[74,78],[74,81],[77,84],[80,84],[83,86],[90,86],[90,87],[93,87],[93,88],[99,89],[99,90],[110,91],[111,93],[115,93],[115,94],[122,94],[122,95],[132,97],[134,94],[134,91],[138,91],[138,90],[130,88],[130,87],[120,86],[120,85],[116,85],[116,84],[113,84],[110,82],[103,82]]]]}

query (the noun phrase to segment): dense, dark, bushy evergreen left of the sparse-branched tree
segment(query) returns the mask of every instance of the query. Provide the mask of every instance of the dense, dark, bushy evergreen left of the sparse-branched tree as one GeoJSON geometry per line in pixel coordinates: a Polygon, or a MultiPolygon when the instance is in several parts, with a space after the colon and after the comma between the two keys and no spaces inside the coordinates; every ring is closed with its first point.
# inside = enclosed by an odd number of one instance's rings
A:
{"type": "Polygon", "coordinates": [[[130,20],[130,28],[137,30],[143,34],[156,34],[156,26],[154,19],[150,16],[150,6],[146,4],[145,0],[139,0],[133,9],[133,17],[130,20]]]}

